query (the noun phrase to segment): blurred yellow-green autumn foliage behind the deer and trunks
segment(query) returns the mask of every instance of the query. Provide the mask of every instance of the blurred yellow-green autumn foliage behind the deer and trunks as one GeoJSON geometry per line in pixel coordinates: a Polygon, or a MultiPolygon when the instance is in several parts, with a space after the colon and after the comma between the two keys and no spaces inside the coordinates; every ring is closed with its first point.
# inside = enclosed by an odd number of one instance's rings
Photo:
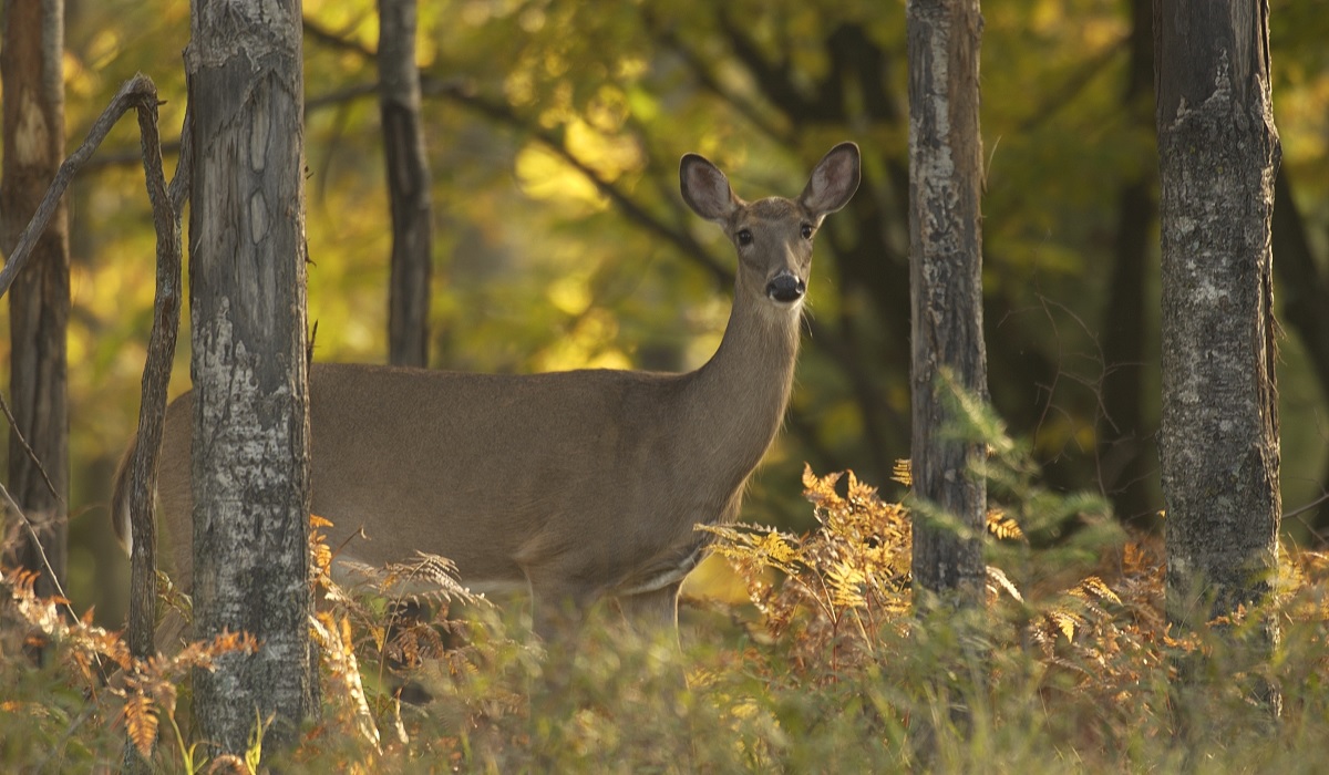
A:
{"type": "MultiPolygon", "coordinates": [[[[1329,15],[1318,3],[1271,4],[1292,512],[1326,492],[1329,465],[1329,15]]],[[[983,11],[993,403],[1031,441],[1051,487],[1102,492],[1124,522],[1156,528],[1151,4],[1022,0],[983,11]]],[[[68,146],[138,70],[167,100],[163,136],[178,137],[187,4],[66,0],[66,13],[68,146]]],[[[383,362],[389,218],[376,8],[306,0],[304,15],[315,358],[383,362]]],[[[821,153],[855,140],[864,182],[819,241],[793,405],[744,517],[811,526],[804,461],[888,481],[909,455],[905,56],[902,0],[421,3],[431,366],[699,366],[728,315],[732,251],[683,206],[678,158],[708,156],[750,199],[793,195],[821,153]]],[[[70,592],[76,609],[96,604],[109,623],[124,615],[128,561],[106,524],[108,481],[137,421],[152,319],[138,165],[136,128],[122,121],[70,194],[70,592]]],[[[173,395],[189,387],[187,342],[182,332],[173,395]]],[[[1285,530],[1321,544],[1329,510],[1302,510],[1285,530]]]]}

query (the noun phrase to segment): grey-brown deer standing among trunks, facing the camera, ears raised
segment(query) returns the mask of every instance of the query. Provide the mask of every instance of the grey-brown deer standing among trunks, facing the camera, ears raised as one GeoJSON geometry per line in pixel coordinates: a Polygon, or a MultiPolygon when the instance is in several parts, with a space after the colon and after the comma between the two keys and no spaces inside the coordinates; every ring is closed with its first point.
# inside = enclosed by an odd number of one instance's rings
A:
{"type": "MultiPolygon", "coordinates": [[[[719,350],[688,374],[482,375],[314,364],[314,513],[335,548],[369,565],[449,557],[462,584],[529,585],[536,630],[613,596],[630,619],[676,623],[679,584],[707,534],[732,520],[793,384],[812,239],[859,186],[844,142],[797,199],[738,198],[719,169],[683,157],[683,199],[738,251],[719,350]]],[[[165,562],[190,588],[193,396],[166,411],[157,477],[165,562]]],[[[126,452],[113,521],[129,532],[126,452]]],[[[350,556],[350,557],[347,557],[350,556]]]]}

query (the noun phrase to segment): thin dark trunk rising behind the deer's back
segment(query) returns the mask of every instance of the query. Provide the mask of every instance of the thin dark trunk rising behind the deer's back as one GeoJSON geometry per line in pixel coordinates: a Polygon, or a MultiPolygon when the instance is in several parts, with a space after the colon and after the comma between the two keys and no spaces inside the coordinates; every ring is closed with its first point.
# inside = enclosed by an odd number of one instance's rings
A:
{"type": "Polygon", "coordinates": [[[429,164],[420,121],[415,0],[379,0],[379,88],[383,150],[392,201],[388,362],[424,367],[429,358],[432,274],[429,164]]]}

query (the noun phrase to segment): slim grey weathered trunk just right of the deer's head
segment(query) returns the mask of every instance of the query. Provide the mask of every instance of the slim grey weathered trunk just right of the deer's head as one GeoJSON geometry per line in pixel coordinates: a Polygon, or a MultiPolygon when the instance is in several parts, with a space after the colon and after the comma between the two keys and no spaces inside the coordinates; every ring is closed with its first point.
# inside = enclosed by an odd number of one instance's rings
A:
{"type": "Polygon", "coordinates": [[[977,0],[910,0],[909,234],[913,310],[913,580],[983,602],[985,445],[956,436],[956,389],[986,399],[977,0]],[[925,512],[937,509],[938,520],[925,512]],[[949,524],[957,520],[958,525],[949,524]]]}

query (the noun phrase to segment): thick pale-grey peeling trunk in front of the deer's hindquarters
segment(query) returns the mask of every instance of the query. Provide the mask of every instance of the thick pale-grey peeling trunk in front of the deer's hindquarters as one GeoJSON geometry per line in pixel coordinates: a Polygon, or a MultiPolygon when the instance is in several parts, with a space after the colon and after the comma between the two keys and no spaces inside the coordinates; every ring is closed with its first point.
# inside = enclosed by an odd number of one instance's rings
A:
{"type": "Polygon", "coordinates": [[[311,710],[299,0],[194,0],[185,52],[194,378],[194,634],[256,654],[194,675],[203,738],[264,748],[311,710]]]}

